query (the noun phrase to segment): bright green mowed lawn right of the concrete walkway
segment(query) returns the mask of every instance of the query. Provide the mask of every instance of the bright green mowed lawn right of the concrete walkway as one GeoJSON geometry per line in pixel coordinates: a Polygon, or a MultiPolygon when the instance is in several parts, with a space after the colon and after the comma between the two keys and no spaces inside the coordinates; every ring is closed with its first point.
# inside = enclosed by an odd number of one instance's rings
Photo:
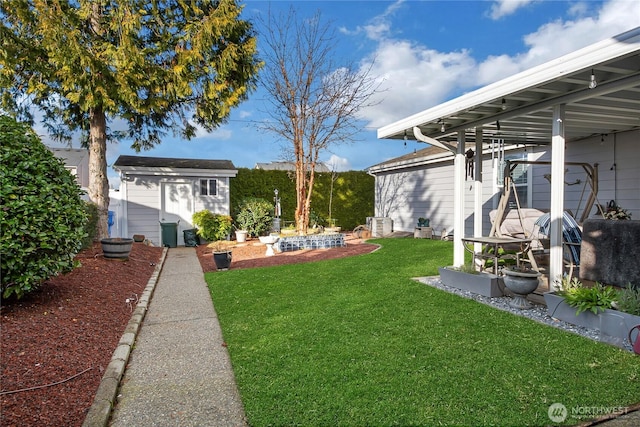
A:
{"type": "Polygon", "coordinates": [[[575,424],[640,401],[640,357],[411,280],[450,242],[375,242],[206,275],[250,425],[545,425],[556,402],[575,424]]]}

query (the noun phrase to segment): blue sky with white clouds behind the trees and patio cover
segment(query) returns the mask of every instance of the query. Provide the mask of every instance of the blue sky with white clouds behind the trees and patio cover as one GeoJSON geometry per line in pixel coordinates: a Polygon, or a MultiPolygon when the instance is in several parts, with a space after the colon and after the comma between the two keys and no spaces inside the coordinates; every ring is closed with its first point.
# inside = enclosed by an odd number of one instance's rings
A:
{"type": "MultiPolygon", "coordinates": [[[[320,11],[338,35],[336,59],[369,67],[380,80],[379,103],[362,111],[358,141],[335,145],[322,160],[336,170],[362,170],[423,144],[378,140],[379,127],[465,92],[640,26],[640,1],[261,1],[247,0],[254,20],[291,5],[301,17],[320,11]]],[[[259,39],[258,35],[258,40],[259,39]]],[[[260,44],[260,42],[258,41],[260,44]]],[[[228,159],[236,167],[283,159],[277,136],[265,134],[265,93],[258,88],[227,124],[191,141],[167,138],[139,155],[228,159]]],[[[46,142],[46,138],[45,138],[46,142]]],[[[110,144],[111,165],[136,154],[126,142],[110,144]]],[[[111,185],[116,173],[109,168],[111,185]]]]}

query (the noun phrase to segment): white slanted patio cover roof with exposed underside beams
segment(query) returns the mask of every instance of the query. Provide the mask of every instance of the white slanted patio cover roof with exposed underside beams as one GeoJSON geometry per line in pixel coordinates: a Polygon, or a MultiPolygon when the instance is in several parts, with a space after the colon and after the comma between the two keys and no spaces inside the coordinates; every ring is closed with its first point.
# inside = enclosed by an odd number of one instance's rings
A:
{"type": "Polygon", "coordinates": [[[457,141],[457,132],[472,142],[481,126],[485,139],[550,144],[558,104],[566,105],[567,141],[639,129],[640,27],[398,120],[378,129],[378,138],[413,138],[417,127],[442,142],[457,141]],[[592,72],[597,86],[590,89],[592,72]]]}

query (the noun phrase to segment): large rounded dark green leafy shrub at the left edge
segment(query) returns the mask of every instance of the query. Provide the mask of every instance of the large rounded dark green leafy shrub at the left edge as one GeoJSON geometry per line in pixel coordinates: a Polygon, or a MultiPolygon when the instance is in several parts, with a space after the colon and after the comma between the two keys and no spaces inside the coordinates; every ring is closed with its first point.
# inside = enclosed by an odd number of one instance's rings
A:
{"type": "Polygon", "coordinates": [[[82,190],[26,125],[0,115],[2,298],[74,267],[85,237],[82,190]]]}

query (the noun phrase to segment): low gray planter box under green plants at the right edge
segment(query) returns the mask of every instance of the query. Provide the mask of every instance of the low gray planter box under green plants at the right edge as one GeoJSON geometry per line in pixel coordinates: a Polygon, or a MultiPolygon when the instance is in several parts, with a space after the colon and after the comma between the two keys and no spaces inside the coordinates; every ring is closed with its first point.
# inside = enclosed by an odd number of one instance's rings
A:
{"type": "MultiPolygon", "coordinates": [[[[605,311],[598,314],[584,311],[576,316],[577,309],[569,306],[563,297],[553,292],[545,293],[544,301],[551,317],[572,325],[599,330],[601,334],[620,341],[629,337],[631,328],[640,325],[640,316],[611,309],[605,309],[605,311]]],[[[605,338],[603,341],[611,340],[605,338]]]]}

